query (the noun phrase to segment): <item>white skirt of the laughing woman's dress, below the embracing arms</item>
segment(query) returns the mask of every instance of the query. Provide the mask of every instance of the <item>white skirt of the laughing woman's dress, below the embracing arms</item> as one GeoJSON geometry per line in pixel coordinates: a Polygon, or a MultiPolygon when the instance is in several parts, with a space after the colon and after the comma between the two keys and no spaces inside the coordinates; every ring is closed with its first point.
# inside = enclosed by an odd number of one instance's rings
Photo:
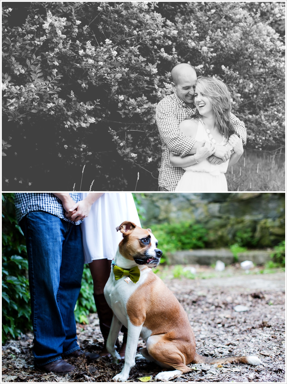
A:
{"type": "Polygon", "coordinates": [[[175,188],[176,192],[227,192],[227,190],[223,172],[214,176],[209,172],[185,171],[175,188]]]}

